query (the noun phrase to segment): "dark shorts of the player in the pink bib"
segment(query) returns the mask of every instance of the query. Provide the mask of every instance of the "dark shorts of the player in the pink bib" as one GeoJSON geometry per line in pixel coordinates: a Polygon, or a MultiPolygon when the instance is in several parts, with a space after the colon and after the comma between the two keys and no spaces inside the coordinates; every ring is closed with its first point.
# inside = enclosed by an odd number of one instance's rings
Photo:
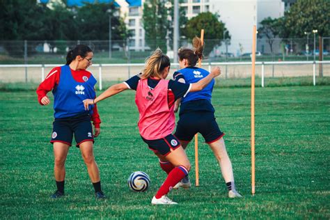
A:
{"type": "Polygon", "coordinates": [[[162,139],[143,139],[143,141],[148,144],[150,150],[152,150],[153,152],[159,152],[163,156],[168,155],[171,152],[171,149],[175,150],[176,148],[181,146],[180,141],[175,136],[173,136],[173,134],[168,134],[168,136],[162,139]]]}

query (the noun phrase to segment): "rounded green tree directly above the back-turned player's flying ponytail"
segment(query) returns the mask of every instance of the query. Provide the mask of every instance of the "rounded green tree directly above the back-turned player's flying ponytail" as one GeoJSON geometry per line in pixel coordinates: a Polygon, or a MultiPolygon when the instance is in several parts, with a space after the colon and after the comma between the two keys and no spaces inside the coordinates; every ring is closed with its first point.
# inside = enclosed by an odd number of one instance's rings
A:
{"type": "Polygon", "coordinates": [[[230,39],[230,34],[226,30],[225,24],[219,21],[219,15],[210,12],[200,13],[196,17],[189,19],[186,25],[187,38],[191,40],[195,36],[201,36],[201,29],[204,29],[205,49],[206,55],[212,52],[212,49],[221,45],[223,33],[226,32],[226,39],[230,39]]]}

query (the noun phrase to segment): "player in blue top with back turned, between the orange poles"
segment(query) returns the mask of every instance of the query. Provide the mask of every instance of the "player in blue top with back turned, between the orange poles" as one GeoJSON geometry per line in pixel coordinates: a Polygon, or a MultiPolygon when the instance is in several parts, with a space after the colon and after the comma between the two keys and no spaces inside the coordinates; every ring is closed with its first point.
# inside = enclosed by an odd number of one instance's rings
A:
{"type": "MultiPolygon", "coordinates": [[[[195,65],[203,57],[203,45],[200,38],[193,39],[194,49],[181,48],[178,52],[180,70],[173,74],[175,81],[186,84],[196,83],[207,77],[210,72],[195,65]]],[[[214,107],[211,104],[214,79],[202,91],[188,93],[181,100],[175,102],[175,110],[180,104],[180,120],[175,136],[180,140],[182,147],[187,148],[188,143],[196,133],[201,133],[205,142],[210,146],[217,158],[221,173],[226,181],[228,196],[230,198],[242,197],[235,189],[233,168],[223,141],[223,132],[219,129],[214,117],[214,107]]],[[[188,176],[175,185],[174,188],[189,188],[191,183],[188,176]]]]}

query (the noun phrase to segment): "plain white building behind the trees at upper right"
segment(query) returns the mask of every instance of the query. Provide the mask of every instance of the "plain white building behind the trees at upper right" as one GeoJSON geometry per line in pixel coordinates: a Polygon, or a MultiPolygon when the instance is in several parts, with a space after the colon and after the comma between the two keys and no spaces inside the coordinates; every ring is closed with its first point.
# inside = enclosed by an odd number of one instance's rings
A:
{"type": "MultiPolygon", "coordinates": [[[[231,36],[228,52],[235,56],[252,51],[253,25],[258,29],[262,19],[284,15],[281,0],[210,0],[210,4],[210,11],[218,13],[226,24],[231,36]]],[[[225,46],[220,50],[225,51],[225,46]]]]}

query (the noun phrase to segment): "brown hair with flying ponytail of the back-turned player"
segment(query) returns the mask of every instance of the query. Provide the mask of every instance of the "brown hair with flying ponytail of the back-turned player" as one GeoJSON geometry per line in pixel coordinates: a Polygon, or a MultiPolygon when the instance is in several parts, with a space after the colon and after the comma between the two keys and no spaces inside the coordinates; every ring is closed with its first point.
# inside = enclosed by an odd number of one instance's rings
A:
{"type": "Polygon", "coordinates": [[[178,52],[180,61],[186,58],[188,61],[188,65],[190,66],[195,66],[198,60],[200,58],[203,58],[204,46],[202,45],[201,38],[195,37],[193,39],[193,46],[194,49],[180,48],[178,52]]]}

